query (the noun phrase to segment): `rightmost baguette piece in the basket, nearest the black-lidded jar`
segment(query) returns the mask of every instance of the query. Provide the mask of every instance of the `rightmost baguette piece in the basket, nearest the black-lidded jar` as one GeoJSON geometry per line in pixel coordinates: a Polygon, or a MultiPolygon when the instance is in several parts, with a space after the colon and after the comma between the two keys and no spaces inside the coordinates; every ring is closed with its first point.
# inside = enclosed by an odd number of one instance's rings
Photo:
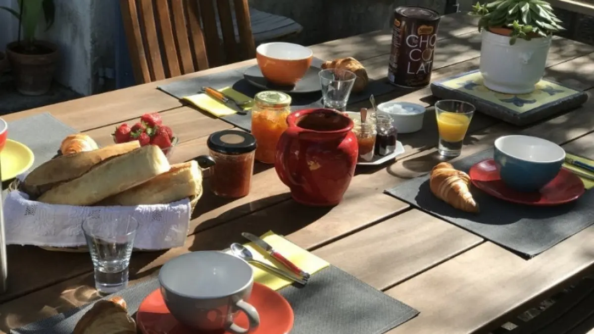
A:
{"type": "Polygon", "coordinates": [[[200,194],[201,191],[202,172],[198,163],[192,160],[172,165],[169,172],[106,198],[99,205],[166,204],[200,194]]]}

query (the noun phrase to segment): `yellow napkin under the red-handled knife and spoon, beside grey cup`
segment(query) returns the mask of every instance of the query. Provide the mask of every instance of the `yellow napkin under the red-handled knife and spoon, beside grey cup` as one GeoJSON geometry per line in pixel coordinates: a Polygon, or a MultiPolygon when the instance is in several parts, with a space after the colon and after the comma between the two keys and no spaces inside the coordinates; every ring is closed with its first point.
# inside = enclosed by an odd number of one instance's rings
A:
{"type": "MultiPolygon", "coordinates": [[[[286,240],[272,231],[266,232],[266,234],[262,235],[260,238],[268,242],[268,244],[270,244],[274,250],[282,254],[282,256],[295,263],[295,265],[301,268],[301,270],[304,270],[305,272],[308,272],[312,275],[315,272],[318,272],[330,265],[326,261],[320,259],[314,254],[309,253],[307,250],[304,250],[298,245],[293,244],[293,242],[286,240]]],[[[254,255],[254,259],[264,261],[281,270],[288,271],[288,269],[286,269],[282,264],[277,264],[277,262],[268,256],[266,252],[260,251],[258,247],[255,247],[252,242],[245,244],[245,247],[249,248],[249,250],[254,255]]],[[[286,281],[285,279],[280,278],[273,273],[269,273],[266,270],[260,269],[257,266],[252,264],[250,265],[252,268],[254,268],[254,281],[264,284],[268,286],[268,288],[279,290],[293,283],[292,281],[286,281]]]]}

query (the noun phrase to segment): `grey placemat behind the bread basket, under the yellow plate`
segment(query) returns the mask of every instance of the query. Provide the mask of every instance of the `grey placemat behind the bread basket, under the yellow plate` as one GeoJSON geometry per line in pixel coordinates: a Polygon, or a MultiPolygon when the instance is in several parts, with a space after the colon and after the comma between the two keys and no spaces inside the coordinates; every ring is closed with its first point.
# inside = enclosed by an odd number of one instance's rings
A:
{"type": "Polygon", "coordinates": [[[8,138],[27,145],[33,151],[34,162],[30,171],[52,159],[58,153],[62,140],[74,133],[78,131],[48,112],[8,122],[8,138]]]}

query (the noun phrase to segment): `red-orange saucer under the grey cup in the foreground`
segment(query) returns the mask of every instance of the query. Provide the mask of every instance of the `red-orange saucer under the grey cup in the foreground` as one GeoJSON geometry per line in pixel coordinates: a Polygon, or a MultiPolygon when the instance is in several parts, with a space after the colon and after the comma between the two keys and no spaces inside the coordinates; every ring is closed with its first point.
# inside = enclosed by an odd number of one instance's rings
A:
{"type": "MultiPolygon", "coordinates": [[[[278,292],[260,283],[254,283],[248,303],[260,314],[260,326],[250,334],[285,334],[293,328],[293,309],[278,292]]],[[[165,306],[159,289],[151,292],[140,304],[136,323],[144,334],[198,334],[175,320],[165,306]]],[[[235,323],[244,328],[248,327],[248,319],[241,312],[235,323]]],[[[223,333],[229,332],[220,334],[223,333]]]]}

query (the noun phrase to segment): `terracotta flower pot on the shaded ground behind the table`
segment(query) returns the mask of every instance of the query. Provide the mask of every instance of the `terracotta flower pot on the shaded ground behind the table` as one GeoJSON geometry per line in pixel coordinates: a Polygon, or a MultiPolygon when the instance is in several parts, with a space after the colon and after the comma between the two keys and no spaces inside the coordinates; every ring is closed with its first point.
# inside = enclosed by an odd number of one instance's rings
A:
{"type": "Polygon", "coordinates": [[[17,90],[24,95],[47,93],[56,71],[58,46],[41,40],[35,41],[35,46],[41,51],[39,54],[24,52],[18,42],[7,46],[17,90]]]}

